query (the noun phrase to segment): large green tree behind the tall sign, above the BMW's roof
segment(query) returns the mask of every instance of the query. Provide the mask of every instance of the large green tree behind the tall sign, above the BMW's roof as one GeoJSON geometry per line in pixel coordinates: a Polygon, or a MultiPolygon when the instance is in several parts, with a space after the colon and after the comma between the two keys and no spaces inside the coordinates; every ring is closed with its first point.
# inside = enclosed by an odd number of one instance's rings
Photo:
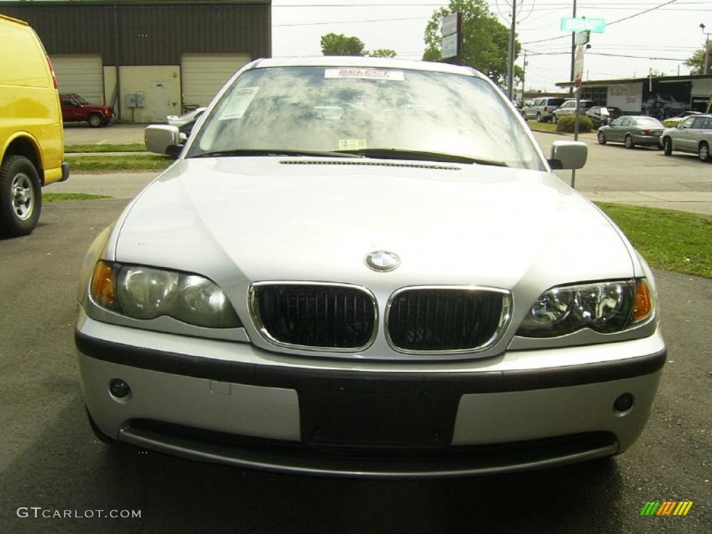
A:
{"type": "MultiPolygon", "coordinates": [[[[450,0],[449,6],[436,9],[425,28],[423,59],[437,61],[441,58],[440,19],[458,11],[463,15],[462,64],[476,68],[500,86],[505,85],[509,28],[497,20],[485,0],[450,0]]],[[[520,49],[521,45],[515,40],[515,58],[520,49]]],[[[521,76],[522,69],[515,66],[515,85],[521,76]]]]}

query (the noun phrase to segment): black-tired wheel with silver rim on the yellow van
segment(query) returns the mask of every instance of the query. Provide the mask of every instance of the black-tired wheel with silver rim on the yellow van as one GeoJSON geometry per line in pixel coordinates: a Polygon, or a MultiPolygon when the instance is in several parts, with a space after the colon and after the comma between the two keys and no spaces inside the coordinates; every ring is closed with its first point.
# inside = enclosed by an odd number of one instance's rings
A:
{"type": "Polygon", "coordinates": [[[40,218],[42,191],[37,169],[24,156],[10,156],[0,167],[0,235],[26,236],[40,218]]]}

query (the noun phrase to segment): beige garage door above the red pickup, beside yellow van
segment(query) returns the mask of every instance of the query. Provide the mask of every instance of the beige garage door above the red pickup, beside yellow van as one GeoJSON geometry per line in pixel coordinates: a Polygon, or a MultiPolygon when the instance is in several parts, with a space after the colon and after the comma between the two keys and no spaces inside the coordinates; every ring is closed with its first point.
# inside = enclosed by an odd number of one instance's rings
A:
{"type": "Polygon", "coordinates": [[[104,103],[104,70],[99,54],[56,54],[50,59],[61,94],[78,93],[90,103],[104,103]]]}

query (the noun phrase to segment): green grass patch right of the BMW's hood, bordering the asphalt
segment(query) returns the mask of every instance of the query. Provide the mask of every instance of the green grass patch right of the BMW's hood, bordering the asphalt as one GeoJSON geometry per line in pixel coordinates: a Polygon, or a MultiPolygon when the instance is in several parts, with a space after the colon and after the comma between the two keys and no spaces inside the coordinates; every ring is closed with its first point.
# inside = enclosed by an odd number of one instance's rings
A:
{"type": "Polygon", "coordinates": [[[712,278],[712,215],[597,202],[651,267],[712,278]]]}

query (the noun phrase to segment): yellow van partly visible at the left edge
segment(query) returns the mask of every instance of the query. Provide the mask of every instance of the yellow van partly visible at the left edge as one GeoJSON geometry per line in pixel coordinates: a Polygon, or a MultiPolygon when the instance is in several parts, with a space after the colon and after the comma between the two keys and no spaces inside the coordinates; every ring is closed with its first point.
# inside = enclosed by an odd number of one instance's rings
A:
{"type": "Polygon", "coordinates": [[[68,179],[57,78],[35,31],[0,15],[0,235],[37,225],[41,187],[68,179]]]}

